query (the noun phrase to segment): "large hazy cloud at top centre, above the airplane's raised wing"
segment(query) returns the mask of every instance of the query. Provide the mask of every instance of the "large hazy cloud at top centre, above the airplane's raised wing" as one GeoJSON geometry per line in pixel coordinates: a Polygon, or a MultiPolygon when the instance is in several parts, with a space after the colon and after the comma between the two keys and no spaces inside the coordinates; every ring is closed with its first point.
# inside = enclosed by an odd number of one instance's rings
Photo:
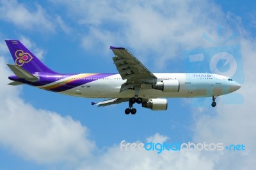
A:
{"type": "Polygon", "coordinates": [[[150,58],[156,69],[163,69],[166,59],[182,56],[184,49],[204,47],[202,33],[216,35],[215,27],[223,15],[218,6],[205,1],[52,3],[65,6],[73,20],[88,28],[82,40],[86,40],[86,50],[99,44],[102,49],[123,45],[138,56],[150,58]]]}

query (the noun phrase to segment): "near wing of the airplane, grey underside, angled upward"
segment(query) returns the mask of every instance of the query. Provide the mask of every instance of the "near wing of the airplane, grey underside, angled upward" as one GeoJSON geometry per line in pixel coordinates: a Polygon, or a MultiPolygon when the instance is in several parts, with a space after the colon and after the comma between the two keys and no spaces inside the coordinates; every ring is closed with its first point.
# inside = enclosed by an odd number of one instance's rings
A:
{"type": "Polygon", "coordinates": [[[110,47],[116,55],[113,61],[123,80],[127,83],[141,84],[143,79],[157,79],[129,50],[122,47],[110,47]]]}

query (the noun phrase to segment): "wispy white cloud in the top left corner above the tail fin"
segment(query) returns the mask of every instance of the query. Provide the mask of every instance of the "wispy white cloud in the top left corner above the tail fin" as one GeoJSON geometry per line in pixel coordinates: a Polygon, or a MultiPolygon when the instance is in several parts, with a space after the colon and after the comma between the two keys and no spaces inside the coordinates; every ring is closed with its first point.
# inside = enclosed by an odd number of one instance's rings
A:
{"type": "Polygon", "coordinates": [[[32,8],[17,0],[3,0],[0,2],[0,20],[29,31],[54,33],[56,28],[60,28],[64,33],[70,34],[72,29],[67,26],[60,15],[52,16],[40,4],[35,3],[34,6],[32,8]]]}

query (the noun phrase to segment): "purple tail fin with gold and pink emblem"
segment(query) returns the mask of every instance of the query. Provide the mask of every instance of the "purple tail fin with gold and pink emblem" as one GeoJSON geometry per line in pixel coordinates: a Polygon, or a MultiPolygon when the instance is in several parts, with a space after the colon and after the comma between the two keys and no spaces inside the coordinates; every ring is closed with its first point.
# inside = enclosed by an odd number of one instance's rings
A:
{"type": "Polygon", "coordinates": [[[19,40],[5,40],[5,42],[12,54],[15,65],[21,66],[30,73],[56,73],[36,58],[19,40]]]}

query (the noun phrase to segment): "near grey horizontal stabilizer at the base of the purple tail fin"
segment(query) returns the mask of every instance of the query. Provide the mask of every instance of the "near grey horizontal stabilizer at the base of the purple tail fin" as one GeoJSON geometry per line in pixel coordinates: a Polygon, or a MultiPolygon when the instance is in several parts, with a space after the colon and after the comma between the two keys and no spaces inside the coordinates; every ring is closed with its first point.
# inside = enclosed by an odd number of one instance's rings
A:
{"type": "Polygon", "coordinates": [[[27,70],[24,70],[18,65],[11,65],[11,64],[7,64],[7,65],[12,70],[12,72],[15,73],[15,75],[17,75],[17,77],[19,77],[20,79],[25,79],[26,81],[31,81],[31,82],[36,82],[39,80],[38,77],[29,73],[27,70]]]}

